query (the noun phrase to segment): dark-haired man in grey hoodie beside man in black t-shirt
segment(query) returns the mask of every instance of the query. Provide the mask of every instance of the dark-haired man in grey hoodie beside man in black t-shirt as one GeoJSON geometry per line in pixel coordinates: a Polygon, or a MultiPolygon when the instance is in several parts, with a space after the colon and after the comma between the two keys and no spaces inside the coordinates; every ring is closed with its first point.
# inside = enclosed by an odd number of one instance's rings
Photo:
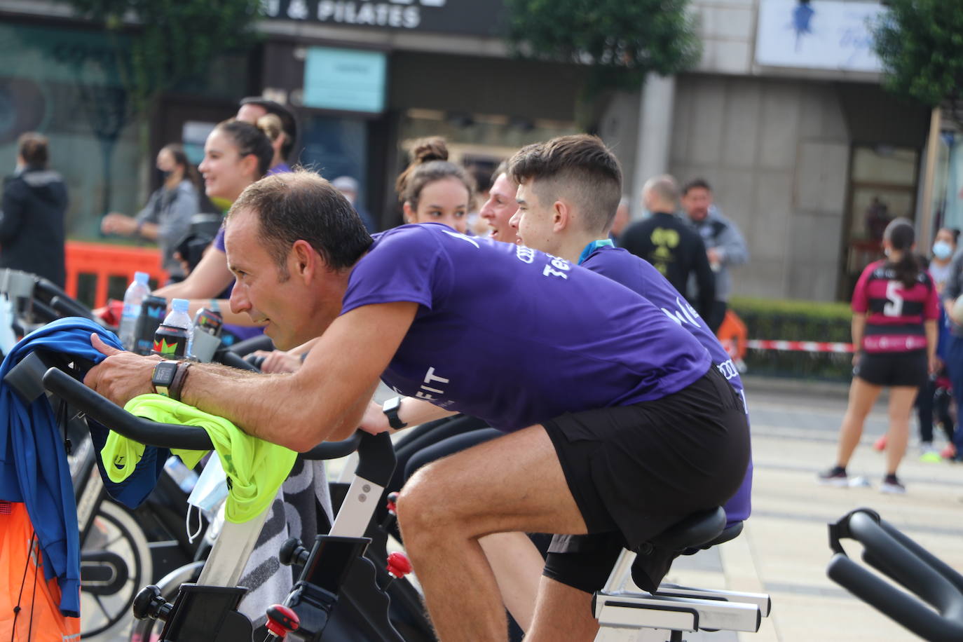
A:
{"type": "Polygon", "coordinates": [[[706,319],[716,332],[725,318],[732,293],[729,267],[747,262],[749,249],[736,223],[718,211],[713,203],[713,190],[704,179],[696,178],[686,184],[682,190],[682,207],[706,244],[709,265],[716,272],[716,302],[712,314],[706,319]]]}

